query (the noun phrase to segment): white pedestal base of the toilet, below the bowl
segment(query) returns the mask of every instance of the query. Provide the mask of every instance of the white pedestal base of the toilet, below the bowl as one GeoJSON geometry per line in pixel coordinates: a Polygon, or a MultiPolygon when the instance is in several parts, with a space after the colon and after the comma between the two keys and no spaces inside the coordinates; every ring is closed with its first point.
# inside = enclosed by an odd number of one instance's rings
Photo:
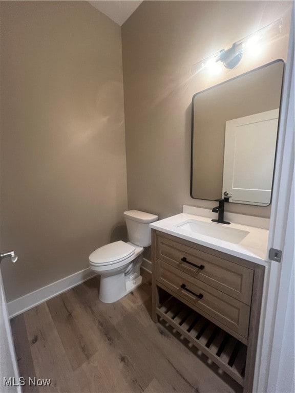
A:
{"type": "Polygon", "coordinates": [[[126,281],[124,273],[114,276],[101,276],[99,287],[99,299],[103,303],[114,303],[139,287],[142,277],[138,276],[132,281],[126,281]]]}

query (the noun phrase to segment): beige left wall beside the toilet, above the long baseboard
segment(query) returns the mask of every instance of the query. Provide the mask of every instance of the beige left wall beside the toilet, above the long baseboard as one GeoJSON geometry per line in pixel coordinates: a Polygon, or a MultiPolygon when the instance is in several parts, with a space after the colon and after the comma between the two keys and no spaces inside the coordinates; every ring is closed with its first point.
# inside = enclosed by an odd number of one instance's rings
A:
{"type": "Polygon", "coordinates": [[[127,208],[121,29],[87,2],[2,2],[7,300],[88,267],[127,208]]]}

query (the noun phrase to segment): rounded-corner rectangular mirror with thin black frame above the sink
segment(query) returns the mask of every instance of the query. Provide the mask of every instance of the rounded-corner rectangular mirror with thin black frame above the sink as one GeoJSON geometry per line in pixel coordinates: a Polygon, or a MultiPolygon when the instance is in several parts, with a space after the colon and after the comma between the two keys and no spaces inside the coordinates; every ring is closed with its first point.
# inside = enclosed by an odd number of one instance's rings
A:
{"type": "Polygon", "coordinates": [[[193,96],[192,198],[270,204],[283,71],[276,60],[193,96]]]}

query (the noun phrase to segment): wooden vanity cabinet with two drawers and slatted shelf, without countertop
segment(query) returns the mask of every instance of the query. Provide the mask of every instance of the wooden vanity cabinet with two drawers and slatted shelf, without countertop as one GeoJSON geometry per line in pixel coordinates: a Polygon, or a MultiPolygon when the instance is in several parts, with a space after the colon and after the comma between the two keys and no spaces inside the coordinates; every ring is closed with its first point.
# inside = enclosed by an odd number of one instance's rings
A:
{"type": "Polygon", "coordinates": [[[264,266],[152,229],[153,320],[252,391],[264,266]]]}

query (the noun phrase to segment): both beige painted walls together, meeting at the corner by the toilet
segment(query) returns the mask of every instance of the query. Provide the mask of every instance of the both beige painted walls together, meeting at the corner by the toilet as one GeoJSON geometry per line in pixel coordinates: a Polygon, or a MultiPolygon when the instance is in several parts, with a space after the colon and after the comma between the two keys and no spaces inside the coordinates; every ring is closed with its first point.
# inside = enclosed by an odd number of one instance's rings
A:
{"type": "MultiPolygon", "coordinates": [[[[124,238],[121,29],[87,2],[2,2],[1,251],[12,300],[84,269],[124,238]]],[[[286,58],[289,2],[147,1],[122,27],[129,207],[160,218],[189,197],[192,96],[286,58]],[[191,65],[279,16],[280,39],[219,79],[191,65]]],[[[261,216],[269,208],[230,206],[261,216]]]]}

